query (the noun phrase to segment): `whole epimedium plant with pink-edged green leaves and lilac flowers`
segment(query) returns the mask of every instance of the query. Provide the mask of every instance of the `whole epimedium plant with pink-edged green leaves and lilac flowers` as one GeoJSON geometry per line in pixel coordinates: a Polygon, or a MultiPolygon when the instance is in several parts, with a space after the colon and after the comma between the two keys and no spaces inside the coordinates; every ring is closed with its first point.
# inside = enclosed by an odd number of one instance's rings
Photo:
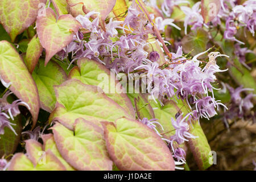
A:
{"type": "Polygon", "coordinates": [[[199,120],[223,111],[228,127],[226,113],[237,110],[233,119],[255,119],[245,54],[255,55],[233,28],[254,35],[255,7],[250,0],[1,1],[0,169],[188,169],[187,154],[209,168],[199,120]]]}

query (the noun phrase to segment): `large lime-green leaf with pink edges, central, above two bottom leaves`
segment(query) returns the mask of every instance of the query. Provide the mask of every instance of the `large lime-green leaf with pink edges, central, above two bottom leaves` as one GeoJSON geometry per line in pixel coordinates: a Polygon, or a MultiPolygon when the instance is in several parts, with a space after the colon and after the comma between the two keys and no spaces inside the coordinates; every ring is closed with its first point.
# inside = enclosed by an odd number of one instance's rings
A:
{"type": "Polygon", "coordinates": [[[57,103],[49,117],[49,122],[57,120],[71,130],[77,118],[84,118],[98,125],[100,121],[114,122],[115,119],[123,116],[132,118],[99,87],[82,84],[76,79],[55,86],[55,93],[57,103]]]}

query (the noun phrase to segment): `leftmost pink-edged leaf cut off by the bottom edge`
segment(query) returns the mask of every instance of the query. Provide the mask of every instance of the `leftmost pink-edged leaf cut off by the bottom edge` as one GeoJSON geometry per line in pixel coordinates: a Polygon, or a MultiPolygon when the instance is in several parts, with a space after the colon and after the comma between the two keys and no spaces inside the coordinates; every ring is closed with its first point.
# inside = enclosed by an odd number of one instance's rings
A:
{"type": "Polygon", "coordinates": [[[65,171],[65,167],[51,150],[44,152],[36,140],[26,140],[27,154],[16,153],[10,161],[9,171],[65,171]]]}

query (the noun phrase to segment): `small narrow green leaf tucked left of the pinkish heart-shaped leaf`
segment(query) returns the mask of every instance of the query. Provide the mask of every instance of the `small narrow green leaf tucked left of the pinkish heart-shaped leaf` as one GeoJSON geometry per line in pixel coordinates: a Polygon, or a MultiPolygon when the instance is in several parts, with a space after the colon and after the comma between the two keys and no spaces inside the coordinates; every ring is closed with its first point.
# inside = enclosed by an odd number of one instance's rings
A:
{"type": "Polygon", "coordinates": [[[39,38],[35,35],[27,45],[26,57],[24,59],[27,69],[32,73],[38,64],[39,57],[43,52],[43,47],[40,44],[39,38]]]}

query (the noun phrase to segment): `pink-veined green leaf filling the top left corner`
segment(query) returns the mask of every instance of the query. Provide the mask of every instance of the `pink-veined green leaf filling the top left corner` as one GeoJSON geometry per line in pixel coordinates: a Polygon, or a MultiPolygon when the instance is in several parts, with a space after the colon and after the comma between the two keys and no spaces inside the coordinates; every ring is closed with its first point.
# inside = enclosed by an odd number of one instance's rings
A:
{"type": "Polygon", "coordinates": [[[46,0],[0,1],[0,22],[9,33],[12,42],[17,35],[35,22],[40,3],[45,4],[46,0]]]}

